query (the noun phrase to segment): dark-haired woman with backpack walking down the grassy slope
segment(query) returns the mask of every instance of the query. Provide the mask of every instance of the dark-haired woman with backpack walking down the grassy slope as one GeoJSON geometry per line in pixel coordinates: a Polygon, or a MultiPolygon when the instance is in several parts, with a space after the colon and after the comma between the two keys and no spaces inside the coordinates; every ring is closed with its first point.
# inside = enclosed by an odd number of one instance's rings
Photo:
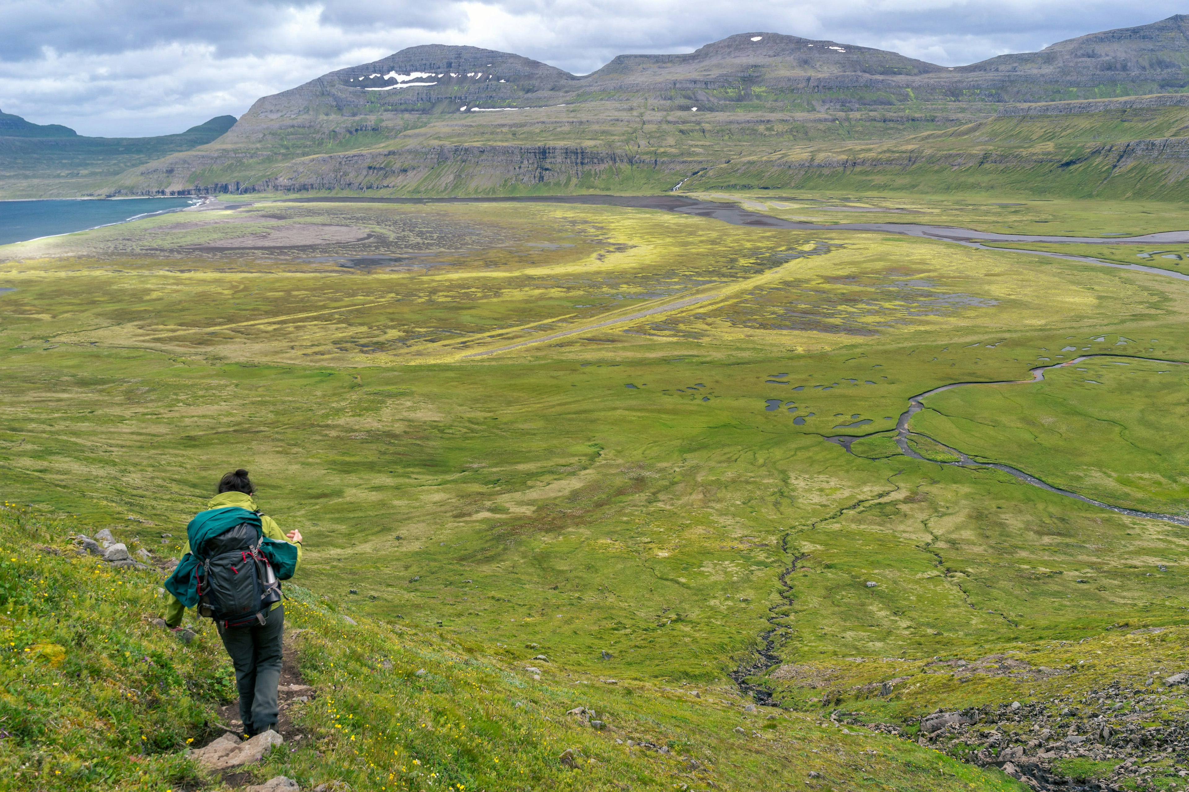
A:
{"type": "Polygon", "coordinates": [[[219,494],[187,526],[184,555],[165,581],[165,623],[180,629],[185,608],[215,620],[235,666],[246,736],[277,724],[277,682],[285,608],[281,583],[301,562],[301,532],[282,533],[260,514],[247,470],[228,473],[219,494]]]}

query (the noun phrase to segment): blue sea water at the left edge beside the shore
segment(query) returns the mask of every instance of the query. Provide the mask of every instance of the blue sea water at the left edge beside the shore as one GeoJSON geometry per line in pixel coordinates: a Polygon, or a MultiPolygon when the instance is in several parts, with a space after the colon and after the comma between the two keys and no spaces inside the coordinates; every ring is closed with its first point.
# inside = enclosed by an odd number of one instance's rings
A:
{"type": "Polygon", "coordinates": [[[194,198],[0,201],[0,245],[121,223],[183,209],[191,203],[194,198]]]}

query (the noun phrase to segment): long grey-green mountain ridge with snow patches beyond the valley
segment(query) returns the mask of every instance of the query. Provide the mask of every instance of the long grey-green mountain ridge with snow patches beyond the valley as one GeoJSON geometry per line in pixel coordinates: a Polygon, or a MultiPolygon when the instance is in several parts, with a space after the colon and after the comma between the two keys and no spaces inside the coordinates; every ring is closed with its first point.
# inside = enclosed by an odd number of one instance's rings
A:
{"type": "MultiPolygon", "coordinates": [[[[581,76],[511,52],[419,45],[263,96],[226,134],[136,164],[102,190],[671,189],[804,145],[829,153],[1019,106],[1092,102],[1096,113],[1099,100],[1181,95],[1187,28],[1175,15],[964,66],[756,31],[688,53],[619,55],[581,76]]],[[[1074,106],[1063,107],[1046,113],[1074,106]]]]}

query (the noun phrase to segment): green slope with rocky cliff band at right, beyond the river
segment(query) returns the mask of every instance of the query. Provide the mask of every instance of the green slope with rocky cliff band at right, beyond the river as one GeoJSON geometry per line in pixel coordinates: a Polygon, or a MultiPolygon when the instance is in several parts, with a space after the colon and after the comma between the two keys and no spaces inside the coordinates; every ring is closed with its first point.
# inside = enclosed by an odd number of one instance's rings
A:
{"type": "Polygon", "coordinates": [[[798,189],[1183,201],[1189,108],[1078,102],[886,144],[803,146],[717,165],[691,190],[798,189]],[[1090,112],[1095,110],[1095,112],[1090,112]]]}

